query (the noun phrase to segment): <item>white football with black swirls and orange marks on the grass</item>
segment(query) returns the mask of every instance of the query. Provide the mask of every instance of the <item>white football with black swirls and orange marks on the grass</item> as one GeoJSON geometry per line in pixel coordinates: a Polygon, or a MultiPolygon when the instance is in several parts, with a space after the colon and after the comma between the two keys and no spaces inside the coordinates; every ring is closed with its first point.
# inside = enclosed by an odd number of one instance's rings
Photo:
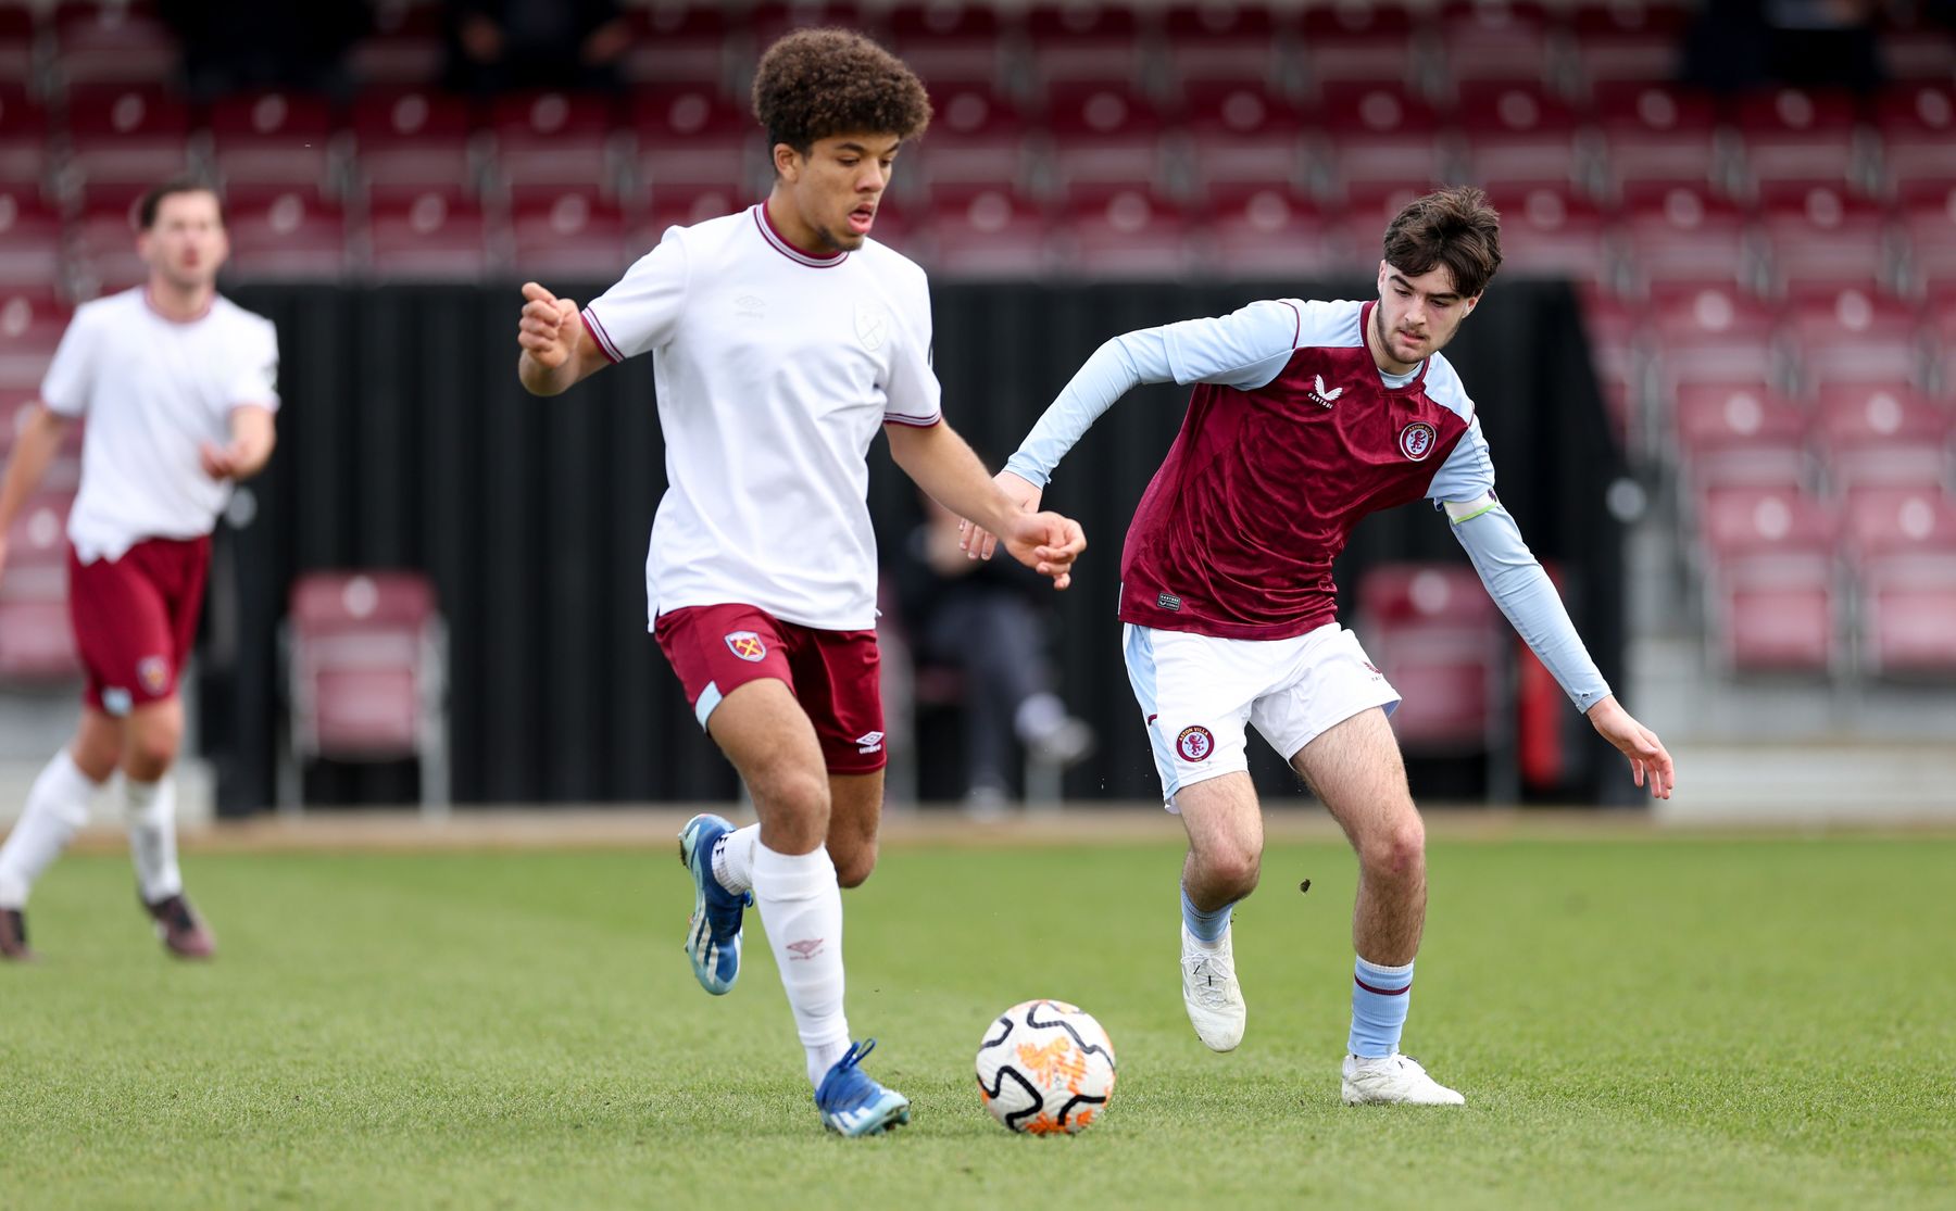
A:
{"type": "Polygon", "coordinates": [[[1107,1113],[1113,1043],[1066,1002],[1021,1002],[978,1041],[978,1098],[1007,1131],[1078,1135],[1107,1113]]]}

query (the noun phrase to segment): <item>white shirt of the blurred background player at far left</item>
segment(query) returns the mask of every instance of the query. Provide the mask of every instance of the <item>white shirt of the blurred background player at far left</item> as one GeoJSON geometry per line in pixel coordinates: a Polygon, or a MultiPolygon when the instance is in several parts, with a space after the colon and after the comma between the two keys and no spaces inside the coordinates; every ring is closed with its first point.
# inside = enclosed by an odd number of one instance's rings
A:
{"type": "Polygon", "coordinates": [[[198,538],[231,499],[198,450],[231,440],[241,405],[278,411],[278,331],[223,295],[198,319],[166,319],[137,286],[76,307],[41,401],[88,419],[68,511],[82,563],[121,560],[145,538],[198,538]]]}

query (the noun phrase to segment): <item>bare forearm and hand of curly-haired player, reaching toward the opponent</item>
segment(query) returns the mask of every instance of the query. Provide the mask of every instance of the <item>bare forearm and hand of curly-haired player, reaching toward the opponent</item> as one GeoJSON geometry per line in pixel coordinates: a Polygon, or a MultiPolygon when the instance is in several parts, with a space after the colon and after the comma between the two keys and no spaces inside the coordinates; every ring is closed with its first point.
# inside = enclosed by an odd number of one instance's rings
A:
{"type": "Polygon", "coordinates": [[[1054,589],[1072,583],[1074,560],[1088,550],[1080,522],[1058,513],[1023,511],[949,425],[886,425],[884,432],[896,466],[939,505],[998,534],[1013,560],[1050,577],[1054,589]]]}

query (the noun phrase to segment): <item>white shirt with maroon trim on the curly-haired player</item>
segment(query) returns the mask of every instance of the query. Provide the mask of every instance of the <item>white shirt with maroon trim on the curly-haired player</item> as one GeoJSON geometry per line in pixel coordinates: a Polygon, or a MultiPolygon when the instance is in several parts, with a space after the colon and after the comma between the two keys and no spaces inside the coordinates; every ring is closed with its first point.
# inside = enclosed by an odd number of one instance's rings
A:
{"type": "Polygon", "coordinates": [[[720,603],[874,626],[868,444],[943,419],[923,270],[874,241],[810,256],[753,205],[669,229],[583,319],[606,358],[653,358],[667,489],[647,626],[720,603]]]}

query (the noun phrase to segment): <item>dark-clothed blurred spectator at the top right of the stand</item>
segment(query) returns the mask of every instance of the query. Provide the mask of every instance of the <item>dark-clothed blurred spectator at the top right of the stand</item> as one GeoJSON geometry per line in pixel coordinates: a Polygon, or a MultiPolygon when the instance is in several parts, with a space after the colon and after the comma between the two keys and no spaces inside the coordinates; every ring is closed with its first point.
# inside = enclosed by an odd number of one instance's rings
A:
{"type": "Polygon", "coordinates": [[[1686,82],[1717,92],[1874,92],[1882,76],[1874,0],[1708,0],[1684,39],[1686,82]]]}

